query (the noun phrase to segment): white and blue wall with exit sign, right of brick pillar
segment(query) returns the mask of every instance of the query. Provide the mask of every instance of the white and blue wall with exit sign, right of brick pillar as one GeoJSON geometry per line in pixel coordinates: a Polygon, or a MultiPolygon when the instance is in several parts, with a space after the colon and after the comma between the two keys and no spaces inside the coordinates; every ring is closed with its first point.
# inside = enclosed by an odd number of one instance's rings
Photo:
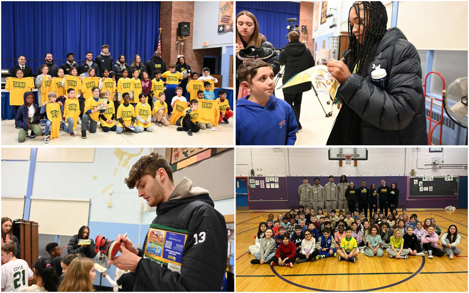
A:
{"type": "MultiPolygon", "coordinates": [[[[217,32],[219,1],[195,1],[194,3],[194,39],[192,49],[221,47],[222,87],[228,87],[230,56],[233,55],[233,31],[217,32]],[[198,17],[200,15],[217,15],[217,17],[198,17]],[[202,46],[209,42],[208,46],[202,46]]],[[[234,15],[232,16],[234,18],[234,15]]]]}

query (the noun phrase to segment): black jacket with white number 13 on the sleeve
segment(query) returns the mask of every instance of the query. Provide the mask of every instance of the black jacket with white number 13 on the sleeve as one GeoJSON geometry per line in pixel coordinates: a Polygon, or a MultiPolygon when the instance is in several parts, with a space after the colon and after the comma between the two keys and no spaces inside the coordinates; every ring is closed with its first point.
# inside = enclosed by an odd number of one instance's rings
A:
{"type": "MultiPolygon", "coordinates": [[[[227,227],[225,218],[213,207],[208,191],[193,188],[192,181],[185,177],[169,200],[157,205],[157,217],[152,223],[189,232],[181,274],[142,258],[136,268],[134,291],[220,291],[227,266],[227,227]]],[[[140,257],[144,256],[147,237],[143,248],[138,248],[140,257]]]]}

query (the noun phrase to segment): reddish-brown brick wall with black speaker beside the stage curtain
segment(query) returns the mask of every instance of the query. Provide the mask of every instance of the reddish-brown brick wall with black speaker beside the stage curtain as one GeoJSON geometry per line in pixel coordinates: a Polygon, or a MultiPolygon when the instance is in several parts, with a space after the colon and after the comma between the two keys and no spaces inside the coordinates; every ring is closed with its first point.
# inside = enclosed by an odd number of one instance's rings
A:
{"type": "MultiPolygon", "coordinates": [[[[203,17],[203,15],[197,15],[203,17]]],[[[178,41],[177,27],[180,22],[190,23],[190,34],[185,40],[180,40],[184,45],[179,46],[179,55],[184,55],[187,64],[192,71],[202,73],[204,66],[204,55],[219,56],[219,68],[221,63],[221,48],[192,49],[194,35],[194,1],[161,1],[159,22],[163,29],[161,32],[162,58],[169,63],[177,62],[178,41]],[[182,47],[182,53],[181,53],[182,47]]],[[[211,72],[211,74],[214,74],[211,72]]]]}

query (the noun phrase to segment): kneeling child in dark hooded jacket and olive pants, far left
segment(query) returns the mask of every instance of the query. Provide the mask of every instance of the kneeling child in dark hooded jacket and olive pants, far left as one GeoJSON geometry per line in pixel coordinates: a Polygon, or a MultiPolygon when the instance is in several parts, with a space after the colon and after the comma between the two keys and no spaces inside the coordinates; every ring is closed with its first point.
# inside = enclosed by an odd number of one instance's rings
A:
{"type": "Polygon", "coordinates": [[[16,139],[18,143],[23,143],[28,136],[28,130],[31,130],[31,138],[36,137],[36,135],[43,135],[42,129],[39,126],[39,121],[41,120],[40,109],[37,104],[34,104],[34,94],[32,91],[27,91],[23,94],[24,104],[18,108],[16,113],[16,125],[20,127],[18,136],[16,139]]]}

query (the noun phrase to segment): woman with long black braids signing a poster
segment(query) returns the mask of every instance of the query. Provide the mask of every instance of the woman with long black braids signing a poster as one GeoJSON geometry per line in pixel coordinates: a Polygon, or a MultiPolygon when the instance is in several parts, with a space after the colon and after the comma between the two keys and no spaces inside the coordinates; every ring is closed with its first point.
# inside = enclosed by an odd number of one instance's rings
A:
{"type": "Polygon", "coordinates": [[[381,1],[357,1],[349,11],[345,63],[327,62],[342,83],[337,98],[343,107],[327,144],[426,145],[422,67],[416,48],[397,27],[386,29],[381,1]],[[371,81],[373,65],[386,70],[378,87],[371,81]]]}

